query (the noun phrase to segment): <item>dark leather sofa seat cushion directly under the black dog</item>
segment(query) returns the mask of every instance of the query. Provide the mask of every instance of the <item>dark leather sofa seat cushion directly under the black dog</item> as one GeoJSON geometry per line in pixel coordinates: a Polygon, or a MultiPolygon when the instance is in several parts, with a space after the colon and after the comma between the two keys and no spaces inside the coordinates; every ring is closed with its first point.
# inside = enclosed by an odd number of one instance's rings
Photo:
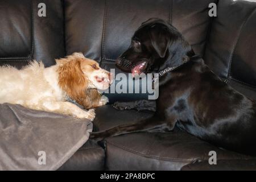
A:
{"type": "MultiPolygon", "coordinates": [[[[135,110],[119,111],[105,105],[96,110],[94,131],[139,121],[151,115],[135,110]]],[[[247,161],[248,165],[256,168],[256,164],[249,160],[256,158],[222,150],[179,129],[170,133],[132,133],[111,137],[105,140],[105,147],[105,167],[109,170],[180,170],[197,163],[206,169],[225,168],[225,165],[227,168],[232,161],[239,164],[237,160],[243,160],[245,165],[247,161]],[[217,165],[209,165],[210,151],[216,151],[217,165]]]]}

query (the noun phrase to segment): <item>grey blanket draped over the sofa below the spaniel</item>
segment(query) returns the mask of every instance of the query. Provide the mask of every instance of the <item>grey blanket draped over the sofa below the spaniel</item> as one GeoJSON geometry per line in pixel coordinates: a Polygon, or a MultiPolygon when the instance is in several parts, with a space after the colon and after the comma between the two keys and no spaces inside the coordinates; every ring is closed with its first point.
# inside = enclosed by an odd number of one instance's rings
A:
{"type": "Polygon", "coordinates": [[[56,170],[90,131],[87,119],[0,104],[0,170],[56,170]]]}

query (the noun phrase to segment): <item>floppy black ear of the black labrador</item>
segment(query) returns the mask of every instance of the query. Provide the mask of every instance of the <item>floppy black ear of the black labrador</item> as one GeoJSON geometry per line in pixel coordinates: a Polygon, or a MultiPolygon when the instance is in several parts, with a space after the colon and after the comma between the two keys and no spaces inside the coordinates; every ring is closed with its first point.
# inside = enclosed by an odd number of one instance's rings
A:
{"type": "Polygon", "coordinates": [[[166,56],[170,45],[170,32],[162,24],[154,24],[150,27],[150,39],[152,46],[160,57],[166,56]]]}

